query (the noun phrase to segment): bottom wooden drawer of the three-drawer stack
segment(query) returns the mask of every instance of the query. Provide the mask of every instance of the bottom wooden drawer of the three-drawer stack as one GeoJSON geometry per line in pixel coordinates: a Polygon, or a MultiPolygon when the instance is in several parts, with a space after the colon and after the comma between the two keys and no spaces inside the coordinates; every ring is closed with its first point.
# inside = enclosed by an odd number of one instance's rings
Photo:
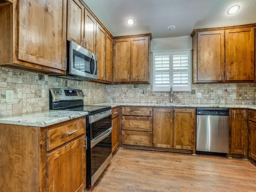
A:
{"type": "Polygon", "coordinates": [[[152,147],[152,132],[122,131],[122,143],[152,147]]]}

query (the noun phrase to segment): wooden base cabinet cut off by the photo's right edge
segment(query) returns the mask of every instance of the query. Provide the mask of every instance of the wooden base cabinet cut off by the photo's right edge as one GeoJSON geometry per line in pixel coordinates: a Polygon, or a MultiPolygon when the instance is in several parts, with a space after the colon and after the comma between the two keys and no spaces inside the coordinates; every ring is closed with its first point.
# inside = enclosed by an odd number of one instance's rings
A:
{"type": "Polygon", "coordinates": [[[256,161],[256,110],[248,112],[249,124],[249,157],[256,161]]]}

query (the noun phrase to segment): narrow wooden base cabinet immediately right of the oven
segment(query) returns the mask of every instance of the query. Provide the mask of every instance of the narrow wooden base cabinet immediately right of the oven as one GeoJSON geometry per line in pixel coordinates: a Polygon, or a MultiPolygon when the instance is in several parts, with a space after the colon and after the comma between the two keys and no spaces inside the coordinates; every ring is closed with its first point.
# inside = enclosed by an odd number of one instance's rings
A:
{"type": "Polygon", "coordinates": [[[119,107],[112,108],[112,153],[119,147],[119,107]]]}

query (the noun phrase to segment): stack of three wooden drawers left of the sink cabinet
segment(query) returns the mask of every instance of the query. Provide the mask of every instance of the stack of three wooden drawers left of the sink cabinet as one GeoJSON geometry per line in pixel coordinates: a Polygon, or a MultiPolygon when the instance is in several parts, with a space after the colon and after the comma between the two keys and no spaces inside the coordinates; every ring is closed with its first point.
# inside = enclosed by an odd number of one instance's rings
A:
{"type": "Polygon", "coordinates": [[[122,108],[122,144],[152,147],[152,108],[122,108]]]}

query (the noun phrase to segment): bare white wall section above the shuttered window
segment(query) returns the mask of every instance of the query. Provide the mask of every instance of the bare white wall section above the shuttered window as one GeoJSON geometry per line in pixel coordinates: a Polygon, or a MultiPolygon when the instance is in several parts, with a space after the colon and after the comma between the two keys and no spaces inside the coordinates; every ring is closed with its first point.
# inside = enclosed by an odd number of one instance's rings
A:
{"type": "Polygon", "coordinates": [[[169,37],[151,40],[151,51],[192,49],[192,37],[169,37]]]}

